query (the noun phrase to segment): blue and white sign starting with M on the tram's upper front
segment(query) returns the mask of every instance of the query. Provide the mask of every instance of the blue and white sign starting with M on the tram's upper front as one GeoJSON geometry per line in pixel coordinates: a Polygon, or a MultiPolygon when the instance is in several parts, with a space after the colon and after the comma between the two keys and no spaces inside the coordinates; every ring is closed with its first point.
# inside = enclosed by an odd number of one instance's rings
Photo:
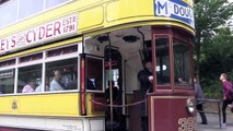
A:
{"type": "Polygon", "coordinates": [[[180,21],[195,28],[193,0],[154,0],[154,14],[180,21]]]}

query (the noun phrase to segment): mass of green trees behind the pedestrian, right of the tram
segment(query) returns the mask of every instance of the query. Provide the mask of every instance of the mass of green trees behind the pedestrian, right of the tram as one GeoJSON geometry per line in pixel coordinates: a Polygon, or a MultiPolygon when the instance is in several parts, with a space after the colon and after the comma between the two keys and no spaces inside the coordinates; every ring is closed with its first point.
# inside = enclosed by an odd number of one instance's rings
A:
{"type": "Polygon", "coordinates": [[[228,0],[197,0],[195,13],[196,73],[207,97],[222,98],[219,75],[228,73],[233,81],[233,35],[224,27],[233,15],[233,3],[228,3],[228,0]]]}

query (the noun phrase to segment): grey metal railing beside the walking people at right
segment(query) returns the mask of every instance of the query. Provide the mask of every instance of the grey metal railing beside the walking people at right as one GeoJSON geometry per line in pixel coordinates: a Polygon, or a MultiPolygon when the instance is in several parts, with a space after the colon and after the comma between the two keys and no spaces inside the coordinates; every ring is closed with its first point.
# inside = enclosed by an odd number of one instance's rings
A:
{"type": "Polygon", "coordinates": [[[220,108],[221,100],[220,99],[206,99],[206,98],[197,98],[197,100],[200,100],[200,102],[210,102],[210,103],[217,103],[218,104],[218,112],[215,112],[215,111],[200,111],[200,110],[197,110],[197,111],[198,112],[205,112],[205,114],[219,115],[219,127],[220,127],[220,129],[222,129],[221,108],[220,108]]]}

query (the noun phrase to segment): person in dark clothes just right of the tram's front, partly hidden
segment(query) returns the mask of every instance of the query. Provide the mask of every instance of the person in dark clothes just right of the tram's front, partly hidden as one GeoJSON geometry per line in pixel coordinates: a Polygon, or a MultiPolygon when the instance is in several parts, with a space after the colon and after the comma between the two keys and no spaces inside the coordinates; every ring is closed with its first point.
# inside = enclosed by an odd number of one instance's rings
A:
{"type": "Polygon", "coordinates": [[[197,99],[196,107],[200,114],[201,124],[208,124],[206,114],[203,112],[205,96],[200,84],[196,80],[196,75],[194,82],[195,82],[195,96],[197,99]]]}

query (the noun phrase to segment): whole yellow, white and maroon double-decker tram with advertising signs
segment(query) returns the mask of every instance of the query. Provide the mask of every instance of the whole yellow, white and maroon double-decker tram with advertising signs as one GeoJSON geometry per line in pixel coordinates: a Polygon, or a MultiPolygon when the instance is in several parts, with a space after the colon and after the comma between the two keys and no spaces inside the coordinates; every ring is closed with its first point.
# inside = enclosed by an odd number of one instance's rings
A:
{"type": "Polygon", "coordinates": [[[197,130],[193,8],[193,0],[0,1],[0,129],[197,130]],[[153,81],[142,94],[145,60],[153,81]]]}

